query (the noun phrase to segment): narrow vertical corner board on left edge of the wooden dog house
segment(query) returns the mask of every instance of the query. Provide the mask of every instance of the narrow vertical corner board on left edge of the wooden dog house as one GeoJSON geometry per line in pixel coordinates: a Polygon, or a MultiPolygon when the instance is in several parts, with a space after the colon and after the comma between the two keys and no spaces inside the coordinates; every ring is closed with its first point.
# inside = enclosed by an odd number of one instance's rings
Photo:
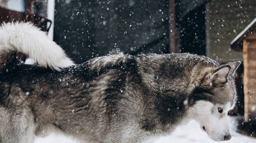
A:
{"type": "Polygon", "coordinates": [[[244,59],[244,121],[249,121],[249,97],[248,97],[248,45],[246,39],[243,40],[243,59],[244,59]]]}

